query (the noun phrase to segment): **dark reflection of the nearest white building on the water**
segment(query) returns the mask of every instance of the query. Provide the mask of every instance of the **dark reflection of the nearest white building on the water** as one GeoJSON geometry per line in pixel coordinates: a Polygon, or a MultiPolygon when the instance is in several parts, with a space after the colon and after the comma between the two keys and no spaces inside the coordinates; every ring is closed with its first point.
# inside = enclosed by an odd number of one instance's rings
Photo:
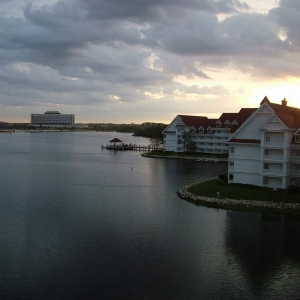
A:
{"type": "Polygon", "coordinates": [[[299,296],[299,225],[299,219],[284,215],[227,213],[229,266],[261,299],[271,297],[274,291],[281,299],[299,296]]]}

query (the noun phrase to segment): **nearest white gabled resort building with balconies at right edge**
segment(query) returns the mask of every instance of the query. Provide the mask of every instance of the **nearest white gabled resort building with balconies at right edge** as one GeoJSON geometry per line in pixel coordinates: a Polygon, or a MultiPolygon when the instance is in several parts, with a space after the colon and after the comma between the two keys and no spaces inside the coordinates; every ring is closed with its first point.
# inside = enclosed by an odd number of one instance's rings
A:
{"type": "Polygon", "coordinates": [[[300,109],[285,99],[280,105],[265,97],[227,143],[229,183],[300,186],[300,109]]]}

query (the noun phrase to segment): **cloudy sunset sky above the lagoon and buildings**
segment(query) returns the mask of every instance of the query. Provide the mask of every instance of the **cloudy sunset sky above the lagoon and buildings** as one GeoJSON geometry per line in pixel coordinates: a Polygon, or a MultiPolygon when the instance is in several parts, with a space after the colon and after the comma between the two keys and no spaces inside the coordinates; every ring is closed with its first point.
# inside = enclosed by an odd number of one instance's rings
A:
{"type": "Polygon", "coordinates": [[[0,0],[0,121],[300,108],[299,0],[0,0]]]}

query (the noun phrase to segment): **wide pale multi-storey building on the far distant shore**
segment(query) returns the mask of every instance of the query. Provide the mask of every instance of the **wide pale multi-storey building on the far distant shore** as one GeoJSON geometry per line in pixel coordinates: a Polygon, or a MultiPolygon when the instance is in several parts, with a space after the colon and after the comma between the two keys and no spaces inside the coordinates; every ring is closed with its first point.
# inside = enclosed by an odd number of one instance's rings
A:
{"type": "Polygon", "coordinates": [[[46,111],[44,114],[31,114],[31,126],[36,127],[63,127],[73,126],[75,116],[73,114],[62,114],[59,111],[46,111]]]}

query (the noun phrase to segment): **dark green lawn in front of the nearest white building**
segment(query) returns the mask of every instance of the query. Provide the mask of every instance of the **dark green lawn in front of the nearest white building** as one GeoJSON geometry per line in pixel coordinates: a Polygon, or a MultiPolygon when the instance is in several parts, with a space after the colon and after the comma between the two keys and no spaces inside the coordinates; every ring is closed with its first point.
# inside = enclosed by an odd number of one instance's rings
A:
{"type": "Polygon", "coordinates": [[[255,188],[238,187],[232,185],[220,185],[218,179],[196,184],[188,189],[189,192],[197,196],[217,198],[219,192],[220,199],[241,199],[260,200],[274,202],[300,203],[300,193],[277,192],[273,190],[260,190],[255,188]]]}

